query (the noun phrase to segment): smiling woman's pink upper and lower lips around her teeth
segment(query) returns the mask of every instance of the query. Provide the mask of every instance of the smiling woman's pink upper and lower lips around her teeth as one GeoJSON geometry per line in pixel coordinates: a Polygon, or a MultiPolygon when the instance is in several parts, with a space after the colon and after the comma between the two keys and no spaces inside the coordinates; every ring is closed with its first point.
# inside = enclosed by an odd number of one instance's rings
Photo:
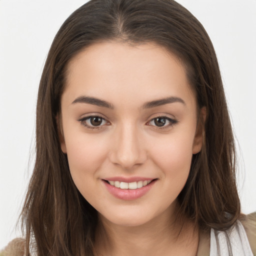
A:
{"type": "MultiPolygon", "coordinates": [[[[140,181],[140,180],[151,180],[152,178],[141,178],[141,177],[134,177],[134,178],[120,178],[115,177],[116,179],[109,178],[107,180],[112,181],[122,181],[122,182],[134,182],[134,181],[140,181]],[[128,181],[127,181],[128,180],[128,181]]],[[[135,200],[144,194],[146,194],[154,185],[157,179],[153,179],[149,184],[142,186],[140,188],[136,189],[121,189],[115,186],[110,185],[106,180],[102,179],[102,182],[104,183],[106,189],[110,194],[115,196],[116,198],[122,199],[122,200],[135,200]]]]}

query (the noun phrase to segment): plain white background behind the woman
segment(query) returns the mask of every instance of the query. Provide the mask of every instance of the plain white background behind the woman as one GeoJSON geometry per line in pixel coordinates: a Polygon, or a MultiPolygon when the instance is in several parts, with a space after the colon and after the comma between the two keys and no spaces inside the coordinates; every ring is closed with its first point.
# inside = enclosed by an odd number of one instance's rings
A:
{"type": "MultiPolygon", "coordinates": [[[[15,222],[32,169],[36,93],[47,51],[65,18],[84,2],[0,0],[0,248],[20,234],[15,222]]],[[[242,210],[255,211],[256,0],[178,2],[215,46],[239,143],[242,210]]]]}

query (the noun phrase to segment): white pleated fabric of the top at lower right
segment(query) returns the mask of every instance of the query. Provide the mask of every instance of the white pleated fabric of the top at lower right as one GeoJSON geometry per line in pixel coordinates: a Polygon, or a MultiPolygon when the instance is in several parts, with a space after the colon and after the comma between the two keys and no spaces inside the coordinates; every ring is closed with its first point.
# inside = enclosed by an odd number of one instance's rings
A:
{"type": "Polygon", "coordinates": [[[226,231],[210,230],[210,256],[253,256],[239,220],[226,231]]]}

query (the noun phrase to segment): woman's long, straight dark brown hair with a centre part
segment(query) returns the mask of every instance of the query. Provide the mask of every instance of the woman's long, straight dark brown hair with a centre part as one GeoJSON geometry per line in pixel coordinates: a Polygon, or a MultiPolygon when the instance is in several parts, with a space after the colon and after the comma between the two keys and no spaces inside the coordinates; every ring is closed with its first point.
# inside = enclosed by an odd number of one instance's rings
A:
{"type": "Polygon", "coordinates": [[[68,61],[90,44],[155,42],[183,63],[198,108],[205,106],[202,150],[193,155],[178,214],[202,229],[226,229],[240,214],[235,149],[218,62],[200,22],[174,0],[91,0],[57,32],[42,72],[36,109],[36,160],[22,220],[37,255],[93,255],[96,210],[74,185],[59,144],[56,115],[68,61]]]}

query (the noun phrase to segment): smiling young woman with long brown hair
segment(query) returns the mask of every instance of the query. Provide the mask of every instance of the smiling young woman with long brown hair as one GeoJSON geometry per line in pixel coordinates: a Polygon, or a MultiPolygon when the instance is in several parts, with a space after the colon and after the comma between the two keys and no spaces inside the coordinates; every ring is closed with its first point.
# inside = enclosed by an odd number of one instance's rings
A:
{"type": "Polygon", "coordinates": [[[218,63],[191,13],[92,0],[64,22],[38,92],[27,255],[252,255],[234,171],[218,63]]]}

